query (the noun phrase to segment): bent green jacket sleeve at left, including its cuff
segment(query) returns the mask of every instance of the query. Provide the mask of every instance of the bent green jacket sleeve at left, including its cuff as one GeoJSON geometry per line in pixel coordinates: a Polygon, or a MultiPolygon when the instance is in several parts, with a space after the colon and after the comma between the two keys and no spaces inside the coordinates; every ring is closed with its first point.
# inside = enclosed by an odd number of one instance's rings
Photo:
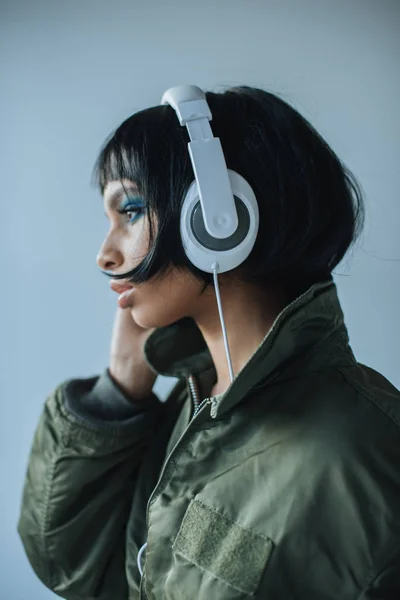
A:
{"type": "Polygon", "coordinates": [[[25,477],[18,533],[37,576],[71,600],[126,600],[125,529],[143,453],[164,404],[134,405],[110,377],[47,398],[25,477]]]}

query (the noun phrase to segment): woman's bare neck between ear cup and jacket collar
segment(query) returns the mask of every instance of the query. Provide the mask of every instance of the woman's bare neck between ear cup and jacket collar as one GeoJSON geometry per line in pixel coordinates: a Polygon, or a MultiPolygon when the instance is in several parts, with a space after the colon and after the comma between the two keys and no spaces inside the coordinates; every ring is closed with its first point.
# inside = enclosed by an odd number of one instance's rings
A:
{"type": "MultiPolygon", "coordinates": [[[[286,306],[281,290],[261,291],[254,285],[235,283],[224,275],[218,277],[233,374],[236,378],[249,358],[286,306]]],[[[218,313],[215,290],[207,288],[199,298],[192,315],[212,356],[217,381],[211,395],[225,392],[231,384],[222,326],[218,313]]]]}

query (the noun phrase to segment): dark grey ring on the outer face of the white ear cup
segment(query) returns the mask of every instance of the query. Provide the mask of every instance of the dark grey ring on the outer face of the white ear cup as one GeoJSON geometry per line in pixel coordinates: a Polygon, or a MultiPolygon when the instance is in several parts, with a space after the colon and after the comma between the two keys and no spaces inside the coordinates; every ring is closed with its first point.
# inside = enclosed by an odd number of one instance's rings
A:
{"type": "Polygon", "coordinates": [[[196,240],[208,250],[232,250],[232,248],[241,244],[248,234],[250,228],[249,211],[240,198],[237,196],[234,196],[234,198],[238,227],[232,235],[225,239],[214,238],[208,233],[204,224],[200,201],[194,206],[190,217],[190,226],[196,240]]]}

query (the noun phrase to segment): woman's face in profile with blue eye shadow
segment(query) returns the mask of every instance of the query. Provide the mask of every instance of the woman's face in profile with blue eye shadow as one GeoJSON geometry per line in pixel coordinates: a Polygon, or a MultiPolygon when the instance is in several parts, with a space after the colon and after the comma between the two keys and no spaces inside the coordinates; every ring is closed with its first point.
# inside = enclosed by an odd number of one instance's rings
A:
{"type": "MultiPolygon", "coordinates": [[[[110,229],[97,255],[97,264],[115,275],[128,273],[149,250],[148,222],[135,184],[128,180],[110,181],[104,189],[104,209],[110,229]]],[[[120,279],[118,283],[125,281],[120,279]]],[[[133,285],[126,310],[131,311],[139,326],[152,328],[193,316],[203,283],[189,271],[178,271],[171,265],[161,281],[133,285]]]]}

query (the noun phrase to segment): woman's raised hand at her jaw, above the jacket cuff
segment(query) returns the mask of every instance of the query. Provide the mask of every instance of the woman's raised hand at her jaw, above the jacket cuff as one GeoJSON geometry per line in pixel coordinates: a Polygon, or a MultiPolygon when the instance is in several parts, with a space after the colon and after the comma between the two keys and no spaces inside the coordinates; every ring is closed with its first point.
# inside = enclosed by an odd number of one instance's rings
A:
{"type": "Polygon", "coordinates": [[[145,342],[155,329],[143,329],[134,321],[129,308],[118,306],[111,338],[109,371],[132,401],[148,398],[157,378],[143,353],[145,342]]]}

